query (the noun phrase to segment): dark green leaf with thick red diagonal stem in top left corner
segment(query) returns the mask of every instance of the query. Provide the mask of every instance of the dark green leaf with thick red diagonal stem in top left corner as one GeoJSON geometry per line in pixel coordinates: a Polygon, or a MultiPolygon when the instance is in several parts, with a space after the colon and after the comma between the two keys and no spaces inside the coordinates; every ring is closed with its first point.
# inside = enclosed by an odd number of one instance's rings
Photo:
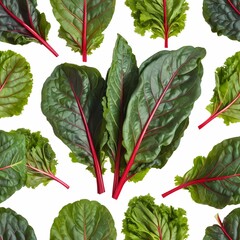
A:
{"type": "Polygon", "coordinates": [[[0,15],[0,41],[21,45],[39,42],[58,56],[46,42],[50,24],[37,10],[36,0],[1,0],[0,15]]]}

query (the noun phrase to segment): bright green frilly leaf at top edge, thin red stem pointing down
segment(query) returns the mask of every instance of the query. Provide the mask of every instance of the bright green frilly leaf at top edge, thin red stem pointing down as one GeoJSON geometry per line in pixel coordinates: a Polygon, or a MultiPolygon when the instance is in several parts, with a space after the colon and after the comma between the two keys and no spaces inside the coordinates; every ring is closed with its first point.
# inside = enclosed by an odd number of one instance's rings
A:
{"type": "Polygon", "coordinates": [[[177,36],[185,27],[188,3],[185,0],[126,0],[126,5],[132,10],[135,31],[144,35],[152,32],[152,38],[165,39],[177,36]]]}

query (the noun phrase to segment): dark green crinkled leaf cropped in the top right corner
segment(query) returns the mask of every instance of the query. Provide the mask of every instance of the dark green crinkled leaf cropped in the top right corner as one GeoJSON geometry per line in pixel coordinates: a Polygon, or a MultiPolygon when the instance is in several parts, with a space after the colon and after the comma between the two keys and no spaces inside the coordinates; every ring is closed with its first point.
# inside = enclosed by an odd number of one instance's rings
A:
{"type": "Polygon", "coordinates": [[[238,0],[204,0],[203,16],[212,32],[240,41],[238,0]]]}

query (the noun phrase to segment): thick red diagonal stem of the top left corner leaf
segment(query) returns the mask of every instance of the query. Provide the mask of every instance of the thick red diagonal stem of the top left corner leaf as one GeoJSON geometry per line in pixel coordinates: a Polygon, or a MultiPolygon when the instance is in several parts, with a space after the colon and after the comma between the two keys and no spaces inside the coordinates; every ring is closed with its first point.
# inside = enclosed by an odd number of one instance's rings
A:
{"type": "Polygon", "coordinates": [[[34,31],[31,27],[29,27],[25,22],[23,22],[20,18],[15,16],[0,0],[0,6],[4,9],[4,11],[13,18],[17,23],[19,23],[21,26],[23,26],[28,32],[31,33],[31,35],[37,39],[41,44],[43,44],[50,52],[52,52],[56,57],[58,56],[58,53],[44,40],[36,31],[34,31]]]}

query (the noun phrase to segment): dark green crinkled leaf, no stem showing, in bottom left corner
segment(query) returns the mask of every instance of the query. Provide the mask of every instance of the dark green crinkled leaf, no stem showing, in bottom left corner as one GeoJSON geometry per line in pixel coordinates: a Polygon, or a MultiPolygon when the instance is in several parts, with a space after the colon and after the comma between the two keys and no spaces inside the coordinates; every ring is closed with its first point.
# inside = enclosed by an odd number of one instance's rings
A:
{"type": "Polygon", "coordinates": [[[0,208],[0,239],[36,240],[37,238],[25,218],[9,208],[0,208]]]}

